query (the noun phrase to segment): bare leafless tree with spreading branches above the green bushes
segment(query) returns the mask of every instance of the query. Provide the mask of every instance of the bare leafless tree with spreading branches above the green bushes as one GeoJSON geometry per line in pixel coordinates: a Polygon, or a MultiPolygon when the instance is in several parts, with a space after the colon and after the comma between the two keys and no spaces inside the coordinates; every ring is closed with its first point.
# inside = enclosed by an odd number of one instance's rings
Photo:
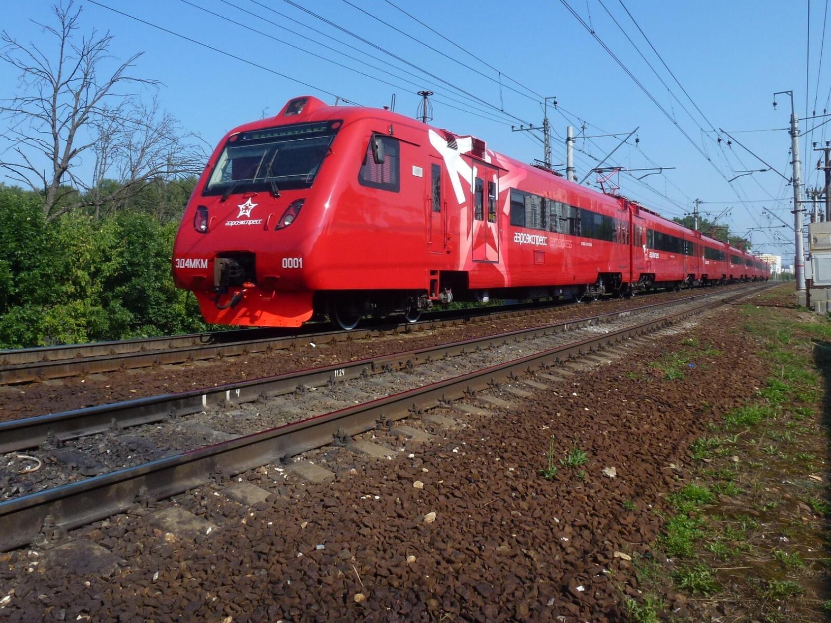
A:
{"type": "Polygon", "coordinates": [[[22,93],[0,100],[0,118],[8,122],[0,135],[8,143],[0,151],[0,169],[43,194],[47,219],[74,208],[98,213],[160,178],[198,174],[203,145],[184,134],[158,101],[148,105],[130,92],[158,86],[128,74],[140,53],[115,61],[109,32],[93,29],[79,37],[80,8],[69,2],[52,10],[57,26],[38,24],[55,42],[52,51],[0,34],[0,61],[21,72],[22,93]],[[92,166],[84,165],[88,153],[94,155],[92,166]],[[116,184],[103,184],[110,179],[116,184]]]}

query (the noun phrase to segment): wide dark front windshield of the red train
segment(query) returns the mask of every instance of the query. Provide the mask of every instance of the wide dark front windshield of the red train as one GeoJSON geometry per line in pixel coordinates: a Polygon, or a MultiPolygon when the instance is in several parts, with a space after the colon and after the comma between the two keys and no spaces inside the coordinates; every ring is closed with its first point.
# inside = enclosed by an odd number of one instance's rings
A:
{"type": "Polygon", "coordinates": [[[202,194],[310,188],[340,125],[281,125],[231,136],[202,194]]]}

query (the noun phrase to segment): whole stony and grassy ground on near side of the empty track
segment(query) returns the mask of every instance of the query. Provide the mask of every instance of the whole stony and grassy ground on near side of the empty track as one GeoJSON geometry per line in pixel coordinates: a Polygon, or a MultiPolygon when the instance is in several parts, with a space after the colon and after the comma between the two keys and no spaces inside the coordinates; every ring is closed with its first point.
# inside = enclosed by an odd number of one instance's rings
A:
{"type": "Polygon", "coordinates": [[[0,614],[820,620],[828,458],[812,366],[825,364],[811,346],[831,329],[792,296],[499,383],[473,410],[414,413],[408,430],[381,424],[71,535],[47,529],[0,554],[0,614]]]}

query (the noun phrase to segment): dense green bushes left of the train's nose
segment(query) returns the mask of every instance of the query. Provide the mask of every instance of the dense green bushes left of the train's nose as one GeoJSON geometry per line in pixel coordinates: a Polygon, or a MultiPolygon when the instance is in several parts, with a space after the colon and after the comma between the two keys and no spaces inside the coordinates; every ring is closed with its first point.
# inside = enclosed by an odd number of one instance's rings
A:
{"type": "Polygon", "coordinates": [[[39,195],[0,184],[0,223],[0,347],[204,331],[173,284],[178,217],[120,209],[47,223],[39,195]]]}

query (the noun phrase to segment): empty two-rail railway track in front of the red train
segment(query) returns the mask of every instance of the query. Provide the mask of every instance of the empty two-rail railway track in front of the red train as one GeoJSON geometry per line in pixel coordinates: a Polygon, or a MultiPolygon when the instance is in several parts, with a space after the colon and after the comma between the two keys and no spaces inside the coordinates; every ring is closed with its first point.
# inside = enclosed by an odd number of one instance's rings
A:
{"type": "MultiPolygon", "coordinates": [[[[44,529],[47,532],[55,527],[68,529],[106,518],[130,508],[137,499],[147,503],[211,480],[223,482],[229,475],[278,459],[288,461],[290,457],[309,449],[332,444],[333,439],[348,443],[352,435],[372,429],[379,422],[387,425],[436,406],[450,405],[454,400],[485,400],[480,392],[494,383],[506,379],[514,382],[520,376],[533,376],[540,370],[544,374],[558,362],[656,331],[760,289],[743,288],[727,297],[713,293],[686,297],[625,312],[224,385],[211,390],[156,396],[0,424],[0,451],[9,453],[40,444],[45,449],[55,448],[66,442],[71,443],[73,439],[85,439],[96,434],[110,435],[105,439],[111,439],[123,434],[127,428],[147,427],[148,424],[175,426],[179,419],[192,414],[199,414],[208,421],[212,417],[214,421],[234,421],[240,418],[240,414],[245,419],[247,407],[255,405],[268,411],[268,405],[273,405],[275,401],[282,404],[272,411],[284,413],[292,406],[289,404],[291,400],[302,402],[303,396],[317,393],[320,388],[325,388],[332,395],[340,391],[342,397],[343,390],[350,389],[344,386],[346,382],[363,384],[360,385],[362,389],[352,388],[347,395],[360,396],[361,391],[366,395],[363,400],[353,400],[354,405],[341,400],[347,405],[337,405],[334,410],[324,408],[312,416],[294,409],[293,419],[283,419],[282,423],[266,429],[248,434],[228,434],[230,439],[219,440],[218,443],[211,443],[217,442],[217,439],[210,439],[210,444],[204,447],[179,449],[174,454],[149,462],[9,499],[0,503],[0,550],[32,542],[44,529]],[[666,313],[671,307],[680,309],[666,313]],[[630,316],[638,316],[642,321],[632,323],[630,316]],[[479,361],[473,363],[469,361],[477,359],[479,361]],[[469,361],[469,364],[450,363],[452,361],[469,361]],[[438,376],[416,371],[441,367],[444,370],[438,376]],[[385,386],[382,391],[393,393],[375,398],[366,391],[366,384],[372,381],[377,383],[385,375],[386,379],[380,383],[385,386]],[[390,377],[396,375],[410,376],[410,385],[405,389],[389,385],[390,377]]],[[[325,401],[323,406],[326,407],[325,401]]],[[[263,419],[254,418],[254,424],[262,422],[263,419]]],[[[166,435],[164,426],[162,434],[166,435]]],[[[199,430],[199,427],[196,429],[199,430]]]]}

